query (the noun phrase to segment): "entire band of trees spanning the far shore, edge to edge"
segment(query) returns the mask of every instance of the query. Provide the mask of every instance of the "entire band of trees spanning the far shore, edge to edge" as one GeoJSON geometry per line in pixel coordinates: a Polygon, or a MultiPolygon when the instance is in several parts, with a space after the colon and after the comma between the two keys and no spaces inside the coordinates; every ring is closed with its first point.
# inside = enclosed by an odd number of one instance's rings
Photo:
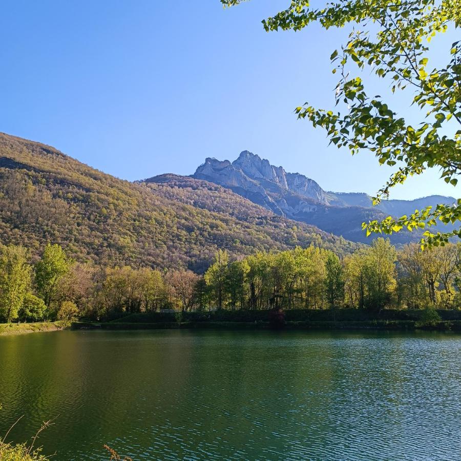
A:
{"type": "Polygon", "coordinates": [[[317,246],[231,259],[218,250],[203,276],[188,269],[101,267],[47,244],[31,258],[0,246],[2,321],[105,319],[214,309],[460,308],[461,244],[397,250],[380,238],[340,258],[317,246]]]}

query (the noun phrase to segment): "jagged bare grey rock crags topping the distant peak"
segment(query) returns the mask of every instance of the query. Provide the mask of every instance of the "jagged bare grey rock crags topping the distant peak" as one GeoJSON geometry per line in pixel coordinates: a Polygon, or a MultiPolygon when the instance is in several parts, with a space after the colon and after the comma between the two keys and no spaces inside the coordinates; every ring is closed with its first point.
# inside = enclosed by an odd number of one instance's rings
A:
{"type": "Polygon", "coordinates": [[[325,191],[316,181],[299,173],[286,173],[282,166],[271,165],[248,151],[241,152],[232,163],[208,157],[193,177],[231,188],[282,216],[294,217],[328,204],[325,191]]]}

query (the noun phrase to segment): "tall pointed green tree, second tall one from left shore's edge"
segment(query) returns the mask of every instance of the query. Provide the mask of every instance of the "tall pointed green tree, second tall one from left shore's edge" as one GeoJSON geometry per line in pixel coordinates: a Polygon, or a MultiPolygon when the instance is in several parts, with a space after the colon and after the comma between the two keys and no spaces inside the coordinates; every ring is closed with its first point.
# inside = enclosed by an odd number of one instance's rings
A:
{"type": "Polygon", "coordinates": [[[71,261],[57,244],[47,244],[41,259],[35,265],[35,283],[40,298],[50,308],[57,292],[59,280],[65,276],[71,261]]]}

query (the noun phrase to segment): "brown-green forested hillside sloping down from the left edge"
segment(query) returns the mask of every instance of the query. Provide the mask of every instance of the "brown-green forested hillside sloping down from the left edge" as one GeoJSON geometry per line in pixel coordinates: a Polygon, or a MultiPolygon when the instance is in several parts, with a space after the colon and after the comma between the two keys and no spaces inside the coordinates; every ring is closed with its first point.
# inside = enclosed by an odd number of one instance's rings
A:
{"type": "Polygon", "coordinates": [[[356,247],[216,184],[172,175],[132,183],[0,133],[0,243],[37,254],[47,242],[78,261],[198,272],[218,248],[237,257],[311,243],[340,254],[356,247]]]}

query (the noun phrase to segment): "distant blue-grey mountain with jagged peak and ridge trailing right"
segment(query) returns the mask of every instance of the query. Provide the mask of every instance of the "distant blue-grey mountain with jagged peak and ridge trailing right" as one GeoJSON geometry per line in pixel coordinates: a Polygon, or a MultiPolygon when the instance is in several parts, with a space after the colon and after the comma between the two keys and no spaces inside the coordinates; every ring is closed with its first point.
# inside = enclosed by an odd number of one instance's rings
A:
{"type": "MultiPolygon", "coordinates": [[[[383,200],[372,206],[363,193],[326,192],[314,180],[300,173],[287,173],[266,159],[243,151],[232,163],[206,158],[192,177],[220,184],[279,216],[306,222],[355,242],[369,242],[362,222],[387,216],[409,215],[415,209],[453,203],[453,197],[430,196],[416,200],[383,200]]],[[[444,226],[448,229],[450,226],[444,226]]],[[[418,241],[422,231],[393,234],[394,244],[418,241]]]]}

